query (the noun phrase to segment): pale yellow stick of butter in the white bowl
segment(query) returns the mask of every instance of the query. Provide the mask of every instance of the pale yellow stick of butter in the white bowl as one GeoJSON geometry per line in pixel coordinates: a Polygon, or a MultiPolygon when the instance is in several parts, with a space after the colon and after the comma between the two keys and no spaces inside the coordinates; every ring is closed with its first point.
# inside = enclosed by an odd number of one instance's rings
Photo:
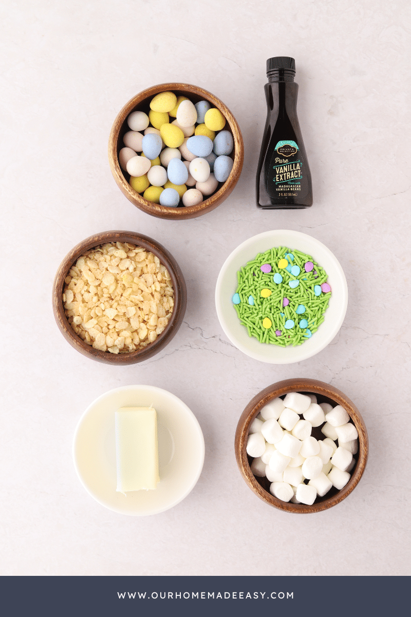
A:
{"type": "Polygon", "coordinates": [[[157,412],[121,407],[116,416],[117,491],[155,489],[158,476],[157,412]]]}

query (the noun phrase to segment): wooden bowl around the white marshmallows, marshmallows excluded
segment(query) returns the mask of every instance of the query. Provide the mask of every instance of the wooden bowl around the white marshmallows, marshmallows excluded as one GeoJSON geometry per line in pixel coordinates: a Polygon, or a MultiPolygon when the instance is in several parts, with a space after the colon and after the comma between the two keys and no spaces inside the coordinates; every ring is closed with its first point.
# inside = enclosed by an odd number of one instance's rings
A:
{"type": "MultiPolygon", "coordinates": [[[[314,437],[324,437],[319,432],[320,427],[314,428],[312,434],[314,437]],[[316,433],[319,432],[319,435],[316,433]]],[[[364,472],[365,465],[368,458],[368,436],[367,429],[365,428],[364,420],[360,415],[359,410],[354,403],[336,387],[330,386],[323,381],[317,381],[317,379],[285,379],[279,381],[272,386],[266,387],[259,392],[243,411],[240,420],[238,420],[237,430],[235,431],[235,458],[237,459],[238,469],[240,470],[243,478],[245,479],[251,490],[264,502],[269,503],[274,508],[279,508],[285,512],[293,512],[298,514],[309,514],[312,512],[320,512],[321,510],[327,510],[332,508],[333,505],[340,503],[345,497],[347,497],[351,491],[355,489],[362,473],[364,472]],[[358,452],[355,455],[356,465],[351,471],[351,478],[348,484],[344,486],[341,491],[338,491],[335,487],[332,487],[330,491],[324,497],[318,497],[312,505],[304,505],[304,503],[291,503],[283,502],[269,492],[270,484],[267,478],[256,478],[250,469],[250,463],[252,458],[246,453],[246,444],[248,437],[248,429],[251,421],[254,420],[264,405],[267,405],[272,399],[276,399],[288,392],[301,392],[303,394],[315,394],[317,395],[317,401],[319,403],[330,403],[332,405],[341,405],[349,414],[352,422],[356,426],[358,431],[358,452]]]]}

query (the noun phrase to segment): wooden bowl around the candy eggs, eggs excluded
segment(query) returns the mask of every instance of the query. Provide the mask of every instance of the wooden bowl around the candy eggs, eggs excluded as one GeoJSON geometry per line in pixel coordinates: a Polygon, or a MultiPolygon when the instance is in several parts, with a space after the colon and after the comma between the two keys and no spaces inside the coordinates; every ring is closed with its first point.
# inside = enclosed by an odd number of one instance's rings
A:
{"type": "Polygon", "coordinates": [[[189,83],[162,83],[157,86],[152,86],[152,88],[147,88],[132,97],[132,99],[124,105],[120,114],[116,117],[110,132],[110,138],[108,139],[108,161],[120,191],[129,201],[131,201],[132,204],[136,205],[137,208],[147,212],[147,214],[151,214],[153,217],[158,218],[171,218],[173,220],[196,218],[206,212],[214,210],[214,208],[221,204],[224,199],[227,199],[231,191],[234,189],[235,184],[237,184],[243,167],[243,159],[243,138],[240,127],[238,126],[234,115],[232,115],[228,107],[226,107],[220,99],[214,96],[214,94],[211,94],[203,88],[198,88],[198,86],[192,86],[189,83]],[[210,102],[213,107],[217,107],[217,109],[224,114],[227,121],[226,126],[224,126],[224,130],[229,130],[234,138],[234,165],[230,175],[226,182],[220,183],[216,193],[208,197],[208,199],[202,201],[201,204],[190,205],[187,207],[169,208],[165,205],[154,204],[151,201],[147,201],[147,199],[144,199],[142,195],[131,188],[128,183],[130,176],[127,172],[123,172],[118,162],[118,153],[124,146],[124,133],[130,130],[127,124],[129,114],[136,110],[140,110],[144,111],[148,115],[150,110],[149,104],[152,97],[155,96],[155,94],[168,90],[173,91],[177,96],[187,96],[187,98],[189,98],[194,104],[198,101],[205,100],[210,102]]]}

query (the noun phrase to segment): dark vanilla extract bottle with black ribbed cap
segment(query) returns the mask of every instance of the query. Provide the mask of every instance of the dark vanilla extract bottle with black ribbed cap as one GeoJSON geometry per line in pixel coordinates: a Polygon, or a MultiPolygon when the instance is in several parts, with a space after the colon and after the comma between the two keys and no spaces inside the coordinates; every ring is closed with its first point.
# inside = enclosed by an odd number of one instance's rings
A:
{"type": "Polygon", "coordinates": [[[267,121],[256,177],[256,202],[262,209],[293,210],[312,205],[311,173],[297,117],[298,84],[294,76],[294,58],[267,60],[267,121]]]}

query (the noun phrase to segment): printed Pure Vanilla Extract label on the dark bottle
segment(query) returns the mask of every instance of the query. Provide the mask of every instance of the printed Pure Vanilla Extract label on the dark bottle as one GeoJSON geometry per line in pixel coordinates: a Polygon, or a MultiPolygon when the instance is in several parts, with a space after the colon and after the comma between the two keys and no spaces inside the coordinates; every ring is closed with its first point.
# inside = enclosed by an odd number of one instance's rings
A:
{"type": "Polygon", "coordinates": [[[303,157],[295,141],[283,139],[274,148],[267,178],[270,197],[298,197],[303,180],[303,157]]]}

